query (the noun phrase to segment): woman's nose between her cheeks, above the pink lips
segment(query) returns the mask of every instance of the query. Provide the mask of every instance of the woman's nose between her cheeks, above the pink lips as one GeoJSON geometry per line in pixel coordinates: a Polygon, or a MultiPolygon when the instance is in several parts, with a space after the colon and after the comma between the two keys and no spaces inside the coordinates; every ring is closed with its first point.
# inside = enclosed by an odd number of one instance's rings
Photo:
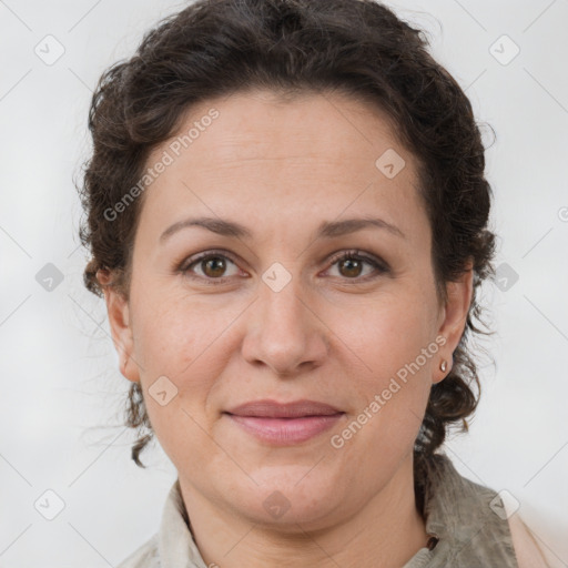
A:
{"type": "Polygon", "coordinates": [[[242,344],[245,361],[265,365],[281,376],[322,365],[328,352],[324,317],[310,295],[303,293],[298,281],[293,277],[278,292],[261,283],[242,344]]]}

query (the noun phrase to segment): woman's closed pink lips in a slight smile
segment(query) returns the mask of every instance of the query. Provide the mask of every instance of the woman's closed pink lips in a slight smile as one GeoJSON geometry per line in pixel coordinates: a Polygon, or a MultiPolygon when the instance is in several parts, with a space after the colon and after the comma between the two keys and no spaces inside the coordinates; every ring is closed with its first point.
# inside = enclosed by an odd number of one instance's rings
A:
{"type": "Polygon", "coordinates": [[[254,400],[225,414],[260,440],[286,446],[300,444],[329,429],[345,413],[315,400],[287,404],[254,400]]]}

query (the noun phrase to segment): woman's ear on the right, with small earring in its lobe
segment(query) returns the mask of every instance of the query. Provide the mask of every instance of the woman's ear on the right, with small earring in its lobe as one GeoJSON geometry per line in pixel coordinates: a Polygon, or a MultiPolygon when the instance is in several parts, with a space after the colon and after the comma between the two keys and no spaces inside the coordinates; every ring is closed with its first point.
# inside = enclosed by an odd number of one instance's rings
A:
{"type": "Polygon", "coordinates": [[[448,368],[439,377],[436,377],[433,381],[434,383],[444,379],[452,371],[452,354],[456,349],[466,326],[473,290],[474,270],[473,262],[469,261],[465,272],[456,282],[446,283],[447,301],[440,312],[438,336],[446,339],[440,348],[440,356],[448,362],[448,368]]]}

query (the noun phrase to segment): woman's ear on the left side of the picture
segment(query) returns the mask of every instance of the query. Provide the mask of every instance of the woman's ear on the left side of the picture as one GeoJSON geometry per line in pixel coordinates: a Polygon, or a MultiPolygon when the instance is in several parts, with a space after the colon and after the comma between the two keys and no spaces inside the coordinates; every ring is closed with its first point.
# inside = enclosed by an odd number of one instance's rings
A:
{"type": "Polygon", "coordinates": [[[99,270],[97,272],[97,280],[104,292],[112,342],[119,354],[120,372],[129,381],[139,383],[139,368],[132,358],[134,339],[132,336],[129,302],[124,294],[111,284],[109,271],[99,270]]]}

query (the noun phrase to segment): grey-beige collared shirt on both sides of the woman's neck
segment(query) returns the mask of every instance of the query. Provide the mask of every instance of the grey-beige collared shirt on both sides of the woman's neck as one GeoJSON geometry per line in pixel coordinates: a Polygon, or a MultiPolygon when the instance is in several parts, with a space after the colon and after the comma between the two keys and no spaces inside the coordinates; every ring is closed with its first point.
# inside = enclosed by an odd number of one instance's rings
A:
{"type": "MultiPolygon", "coordinates": [[[[463,477],[445,454],[430,456],[425,465],[418,481],[430,540],[402,568],[518,568],[499,495],[463,477]]],[[[176,479],[159,531],[118,568],[210,568],[186,518],[176,479]]]]}

